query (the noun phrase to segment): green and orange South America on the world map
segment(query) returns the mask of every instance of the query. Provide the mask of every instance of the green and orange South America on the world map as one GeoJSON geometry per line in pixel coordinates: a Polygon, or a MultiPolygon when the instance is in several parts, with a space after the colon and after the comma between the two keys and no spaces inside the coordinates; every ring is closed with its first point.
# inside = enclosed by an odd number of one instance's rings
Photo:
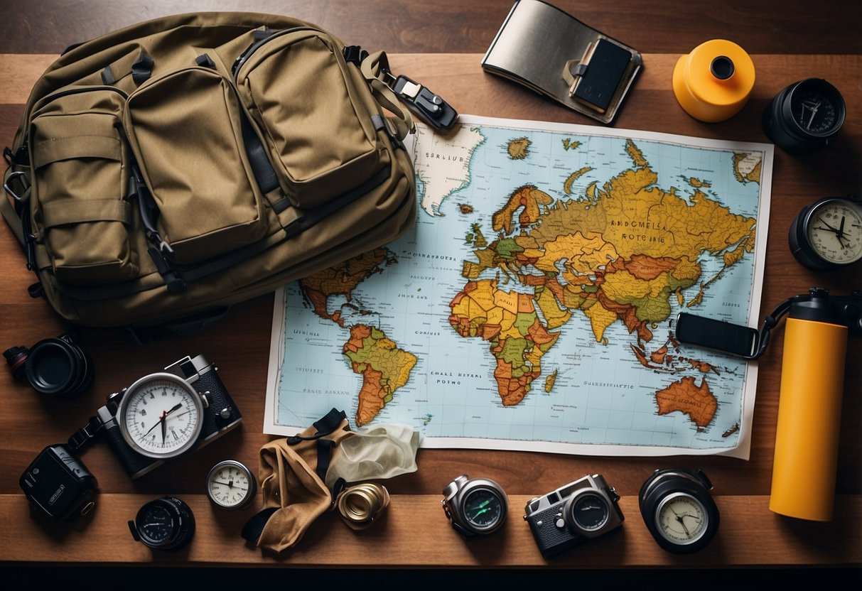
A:
{"type": "Polygon", "coordinates": [[[356,426],[367,425],[392,400],[395,391],[407,383],[416,356],[399,349],[383,331],[364,324],[350,327],[350,339],[342,352],[353,371],[362,376],[356,426]]]}

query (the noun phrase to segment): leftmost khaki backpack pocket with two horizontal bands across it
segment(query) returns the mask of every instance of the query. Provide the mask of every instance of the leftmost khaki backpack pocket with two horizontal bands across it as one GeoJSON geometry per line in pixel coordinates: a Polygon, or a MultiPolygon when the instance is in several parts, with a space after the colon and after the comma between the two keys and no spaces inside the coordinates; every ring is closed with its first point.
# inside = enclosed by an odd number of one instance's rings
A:
{"type": "Polygon", "coordinates": [[[47,96],[34,109],[34,231],[44,239],[61,282],[115,283],[138,273],[129,240],[125,100],[109,87],[77,87],[47,96]]]}

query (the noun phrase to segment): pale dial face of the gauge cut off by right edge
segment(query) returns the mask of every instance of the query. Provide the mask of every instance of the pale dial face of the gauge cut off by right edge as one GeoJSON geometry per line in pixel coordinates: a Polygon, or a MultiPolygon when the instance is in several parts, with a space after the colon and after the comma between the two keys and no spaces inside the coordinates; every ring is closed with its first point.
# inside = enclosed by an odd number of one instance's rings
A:
{"type": "Polygon", "coordinates": [[[862,258],[862,206],[846,199],[829,199],[811,210],[805,232],[817,256],[831,264],[862,258]]]}

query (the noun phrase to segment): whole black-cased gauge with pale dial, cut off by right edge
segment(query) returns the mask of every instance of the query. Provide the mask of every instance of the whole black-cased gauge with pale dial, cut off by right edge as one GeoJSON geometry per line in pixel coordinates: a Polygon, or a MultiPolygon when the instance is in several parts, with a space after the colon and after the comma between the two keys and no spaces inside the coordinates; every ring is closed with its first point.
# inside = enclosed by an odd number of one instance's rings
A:
{"type": "Polygon", "coordinates": [[[803,208],[790,224],[790,251],[813,271],[862,259],[862,200],[826,197],[803,208]]]}

